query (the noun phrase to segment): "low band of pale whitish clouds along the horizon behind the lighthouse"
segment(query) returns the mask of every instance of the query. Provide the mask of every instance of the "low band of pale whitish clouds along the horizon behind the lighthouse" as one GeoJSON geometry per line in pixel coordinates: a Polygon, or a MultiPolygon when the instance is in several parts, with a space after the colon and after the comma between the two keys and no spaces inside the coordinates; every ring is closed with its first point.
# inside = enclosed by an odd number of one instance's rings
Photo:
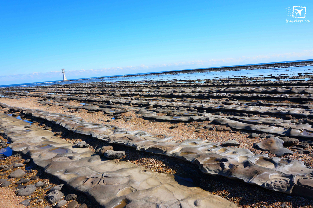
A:
{"type": "MultiPolygon", "coordinates": [[[[111,76],[111,75],[125,75],[136,74],[145,72],[156,71],[169,71],[169,70],[183,70],[183,69],[196,69],[205,67],[219,67],[226,65],[244,65],[244,64],[258,64],[266,62],[279,62],[287,60],[300,60],[302,57],[306,59],[313,58],[313,50],[305,50],[302,52],[285,53],[285,54],[272,54],[272,55],[259,55],[259,56],[242,56],[240,58],[227,58],[227,59],[210,59],[210,60],[195,60],[187,62],[167,63],[161,65],[139,65],[139,66],[125,66],[125,67],[111,67],[101,69],[80,69],[80,70],[66,70],[66,77],[68,79],[89,78],[97,76],[111,76]],[[272,61],[275,60],[275,61],[272,61]]],[[[17,83],[31,83],[40,81],[54,81],[61,80],[63,77],[61,70],[49,72],[33,72],[29,74],[15,74],[0,76],[0,82],[3,85],[17,84],[17,83]]]]}

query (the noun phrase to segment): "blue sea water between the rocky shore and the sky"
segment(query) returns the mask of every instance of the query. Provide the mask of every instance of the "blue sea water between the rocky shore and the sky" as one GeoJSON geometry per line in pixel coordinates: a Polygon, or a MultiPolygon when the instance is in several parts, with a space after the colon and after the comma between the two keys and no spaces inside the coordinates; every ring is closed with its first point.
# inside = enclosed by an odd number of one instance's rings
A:
{"type": "MultiPolygon", "coordinates": [[[[310,60],[300,60],[300,61],[312,61],[310,60]]],[[[298,61],[284,61],[284,62],[273,62],[273,63],[262,63],[262,64],[274,64],[274,63],[292,63],[298,61]]],[[[251,66],[260,64],[251,64],[251,65],[236,65],[236,66],[251,66]]],[[[227,67],[227,66],[223,66],[227,67]]],[[[211,67],[211,68],[202,68],[202,69],[213,69],[213,68],[223,68],[223,67],[211,67]]],[[[228,66],[232,67],[232,66],[228,66]]],[[[199,69],[199,68],[198,68],[199,69]]],[[[188,69],[190,70],[190,69],[188,69]]],[[[305,72],[312,73],[313,66],[292,66],[286,68],[271,68],[271,69],[244,69],[244,70],[232,70],[232,71],[208,71],[208,72],[184,72],[183,70],[177,71],[160,71],[160,72],[147,72],[141,74],[130,74],[130,75],[115,75],[115,76],[104,76],[104,77],[92,77],[92,78],[83,78],[83,79],[74,79],[68,81],[45,81],[45,82],[33,82],[33,83],[24,83],[24,84],[15,84],[15,85],[2,85],[4,87],[20,87],[20,86],[46,86],[46,85],[56,85],[56,84],[72,84],[72,83],[86,83],[86,82],[117,82],[117,81],[168,81],[168,80],[200,80],[203,79],[216,79],[219,78],[234,78],[234,77],[259,77],[262,78],[262,75],[265,76],[280,76],[280,75],[289,75],[297,76],[298,73],[304,74],[305,72]],[[162,72],[167,72],[170,74],[160,74],[162,72]],[[172,72],[172,74],[171,74],[172,72]]],[[[61,77],[60,77],[61,78],[61,77]]],[[[63,78],[63,77],[62,77],[63,78]]],[[[264,79],[266,80],[266,79],[264,79]]],[[[282,79],[290,80],[290,79],[282,79]]],[[[308,79],[302,79],[308,80],[308,79]]]]}

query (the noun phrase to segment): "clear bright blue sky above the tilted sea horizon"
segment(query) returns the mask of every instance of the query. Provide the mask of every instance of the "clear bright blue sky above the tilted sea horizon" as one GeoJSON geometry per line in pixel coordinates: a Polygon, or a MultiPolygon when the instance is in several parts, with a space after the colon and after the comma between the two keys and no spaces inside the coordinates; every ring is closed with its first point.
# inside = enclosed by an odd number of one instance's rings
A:
{"type": "Polygon", "coordinates": [[[313,1],[1,1],[0,85],[313,59],[313,1]],[[306,7],[305,19],[286,8],[306,7]],[[286,23],[286,20],[308,23],[286,23]]]}

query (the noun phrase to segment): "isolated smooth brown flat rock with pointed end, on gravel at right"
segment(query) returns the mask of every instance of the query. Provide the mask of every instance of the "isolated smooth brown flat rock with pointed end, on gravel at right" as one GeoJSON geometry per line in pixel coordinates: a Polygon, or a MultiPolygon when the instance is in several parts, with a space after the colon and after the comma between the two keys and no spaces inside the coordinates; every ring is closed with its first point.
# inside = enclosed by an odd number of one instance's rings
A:
{"type": "Polygon", "coordinates": [[[262,150],[269,151],[270,153],[276,154],[279,157],[288,154],[293,155],[293,152],[290,149],[284,148],[284,141],[275,137],[263,140],[262,142],[257,144],[257,147],[262,150]]]}

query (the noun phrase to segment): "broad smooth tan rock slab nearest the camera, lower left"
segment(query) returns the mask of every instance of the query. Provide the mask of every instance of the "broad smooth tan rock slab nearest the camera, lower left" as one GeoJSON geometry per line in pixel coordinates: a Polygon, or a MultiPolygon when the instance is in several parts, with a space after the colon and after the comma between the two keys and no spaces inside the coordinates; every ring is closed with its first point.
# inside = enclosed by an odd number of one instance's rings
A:
{"type": "MultiPolygon", "coordinates": [[[[200,188],[179,185],[172,175],[136,167],[129,162],[102,160],[90,149],[73,148],[73,144],[54,137],[50,131],[39,127],[25,129],[24,126],[25,122],[0,113],[0,133],[13,141],[10,146],[14,151],[29,154],[46,173],[89,195],[101,207],[194,207],[195,204],[199,208],[237,207],[200,188]]],[[[54,190],[48,200],[55,203],[62,197],[60,191],[54,190]]]]}

